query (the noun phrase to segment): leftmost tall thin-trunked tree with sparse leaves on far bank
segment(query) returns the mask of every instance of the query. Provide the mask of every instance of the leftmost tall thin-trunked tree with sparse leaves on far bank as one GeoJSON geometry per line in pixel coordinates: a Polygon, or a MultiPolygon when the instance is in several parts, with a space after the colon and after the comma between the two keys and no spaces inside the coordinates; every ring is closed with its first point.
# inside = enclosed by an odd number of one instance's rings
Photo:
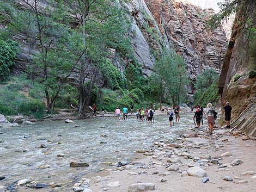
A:
{"type": "Polygon", "coordinates": [[[72,32],[63,22],[62,4],[49,1],[42,8],[39,0],[22,0],[25,9],[19,9],[15,1],[7,3],[16,8],[7,30],[13,35],[24,34],[26,42],[38,49],[33,57],[36,65],[31,71],[35,80],[44,85],[47,109],[51,113],[60,90],[81,58],[70,49],[72,32]]]}

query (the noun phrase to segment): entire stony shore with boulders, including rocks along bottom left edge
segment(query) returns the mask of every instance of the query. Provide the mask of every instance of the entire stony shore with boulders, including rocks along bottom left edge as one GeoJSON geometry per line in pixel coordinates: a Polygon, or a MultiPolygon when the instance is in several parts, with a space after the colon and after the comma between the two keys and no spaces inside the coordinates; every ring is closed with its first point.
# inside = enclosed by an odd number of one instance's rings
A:
{"type": "MultiPolygon", "coordinates": [[[[0,185],[0,191],[256,191],[256,141],[229,131],[216,127],[209,135],[206,126],[187,129],[178,138],[160,139],[147,150],[136,151],[133,160],[109,162],[109,169],[99,174],[74,178],[72,187],[23,178],[0,185]]],[[[70,162],[70,166],[89,165],[70,162]]],[[[3,183],[5,176],[0,179],[3,183]]]]}

